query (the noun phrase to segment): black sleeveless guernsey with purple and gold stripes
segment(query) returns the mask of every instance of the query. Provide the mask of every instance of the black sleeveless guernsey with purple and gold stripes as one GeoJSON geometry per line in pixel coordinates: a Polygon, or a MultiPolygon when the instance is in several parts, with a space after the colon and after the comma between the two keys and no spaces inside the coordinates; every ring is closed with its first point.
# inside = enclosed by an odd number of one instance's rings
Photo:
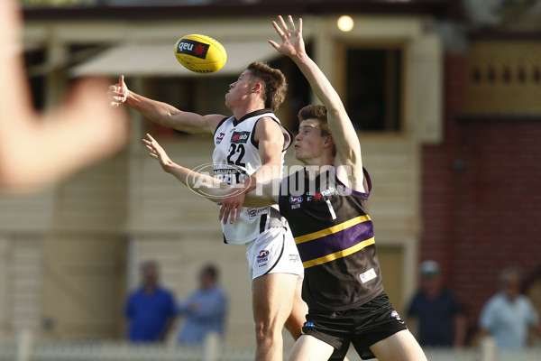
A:
{"type": "Polygon", "coordinates": [[[280,213],[305,267],[302,298],[311,311],[347,310],[383,292],[363,172],[366,193],[347,188],[332,167],[313,180],[307,169],[282,180],[280,213]]]}

